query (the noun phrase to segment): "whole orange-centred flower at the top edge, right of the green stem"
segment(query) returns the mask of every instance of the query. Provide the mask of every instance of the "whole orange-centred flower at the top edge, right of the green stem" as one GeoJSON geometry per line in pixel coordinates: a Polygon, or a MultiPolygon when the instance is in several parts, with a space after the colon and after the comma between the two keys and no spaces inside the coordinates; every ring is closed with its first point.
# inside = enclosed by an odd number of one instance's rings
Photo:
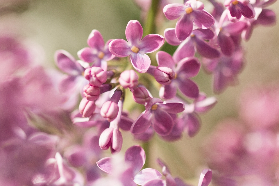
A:
{"type": "Polygon", "coordinates": [[[193,30],[193,22],[199,28],[209,28],[214,24],[214,18],[203,10],[204,4],[200,1],[189,0],[184,4],[169,4],[163,9],[167,19],[178,19],[175,33],[178,40],[183,41],[189,37],[193,30]]]}

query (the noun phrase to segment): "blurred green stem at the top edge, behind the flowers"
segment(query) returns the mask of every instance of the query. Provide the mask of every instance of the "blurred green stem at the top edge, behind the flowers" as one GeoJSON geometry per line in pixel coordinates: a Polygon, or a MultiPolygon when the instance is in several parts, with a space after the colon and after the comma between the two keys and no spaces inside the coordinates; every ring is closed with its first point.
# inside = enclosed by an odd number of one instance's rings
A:
{"type": "Polygon", "coordinates": [[[148,11],[147,19],[144,23],[143,36],[151,33],[156,33],[155,17],[157,15],[159,2],[160,0],[152,0],[151,2],[151,7],[148,11]]]}

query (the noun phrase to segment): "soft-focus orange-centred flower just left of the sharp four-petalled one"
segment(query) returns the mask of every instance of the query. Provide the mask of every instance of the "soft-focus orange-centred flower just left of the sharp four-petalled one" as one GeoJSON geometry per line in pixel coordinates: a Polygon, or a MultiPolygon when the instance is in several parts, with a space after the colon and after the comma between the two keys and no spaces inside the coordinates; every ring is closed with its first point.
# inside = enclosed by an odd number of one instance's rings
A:
{"type": "Polygon", "coordinates": [[[78,51],[78,57],[85,62],[94,62],[94,67],[101,67],[104,71],[107,70],[107,61],[112,60],[115,56],[108,50],[108,44],[112,41],[104,42],[103,36],[97,30],[92,30],[85,47],[78,51]]]}

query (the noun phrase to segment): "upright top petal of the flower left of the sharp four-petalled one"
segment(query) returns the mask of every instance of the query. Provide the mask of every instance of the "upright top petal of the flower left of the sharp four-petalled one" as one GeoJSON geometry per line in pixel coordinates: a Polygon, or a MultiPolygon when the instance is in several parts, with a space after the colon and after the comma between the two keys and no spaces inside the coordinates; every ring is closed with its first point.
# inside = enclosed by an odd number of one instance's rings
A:
{"type": "Polygon", "coordinates": [[[105,46],[103,36],[97,30],[92,30],[92,32],[88,36],[87,44],[88,46],[90,46],[93,49],[96,49],[97,51],[102,51],[105,46]]]}

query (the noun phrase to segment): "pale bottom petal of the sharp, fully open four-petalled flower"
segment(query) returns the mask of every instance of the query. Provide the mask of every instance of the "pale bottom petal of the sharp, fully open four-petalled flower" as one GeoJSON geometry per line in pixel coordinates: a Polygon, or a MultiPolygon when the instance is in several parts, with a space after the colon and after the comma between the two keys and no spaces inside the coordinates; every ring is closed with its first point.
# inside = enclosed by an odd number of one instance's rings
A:
{"type": "Polygon", "coordinates": [[[145,73],[151,64],[149,56],[147,56],[145,53],[132,53],[131,62],[136,71],[140,73],[145,73]]]}

